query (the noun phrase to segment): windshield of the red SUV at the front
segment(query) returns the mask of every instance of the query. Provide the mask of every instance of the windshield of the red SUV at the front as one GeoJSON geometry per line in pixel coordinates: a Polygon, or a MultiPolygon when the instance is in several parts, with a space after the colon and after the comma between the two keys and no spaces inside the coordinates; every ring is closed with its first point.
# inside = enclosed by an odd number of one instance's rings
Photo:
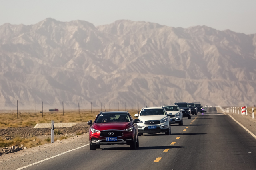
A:
{"type": "Polygon", "coordinates": [[[96,123],[108,123],[108,122],[130,122],[130,117],[127,114],[111,113],[111,114],[100,114],[96,119],[96,123]]]}

